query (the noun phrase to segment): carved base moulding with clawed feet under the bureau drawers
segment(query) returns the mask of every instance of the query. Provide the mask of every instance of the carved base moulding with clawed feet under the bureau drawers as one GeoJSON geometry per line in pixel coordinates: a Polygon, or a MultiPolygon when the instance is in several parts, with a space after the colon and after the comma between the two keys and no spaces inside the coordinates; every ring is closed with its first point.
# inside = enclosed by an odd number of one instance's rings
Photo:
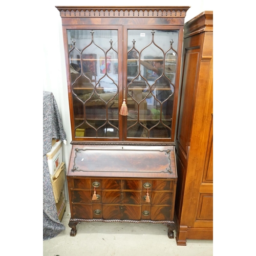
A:
{"type": "Polygon", "coordinates": [[[175,223],[174,221],[152,221],[152,220],[104,220],[104,219],[70,219],[69,227],[71,228],[70,236],[76,236],[76,225],[81,222],[129,222],[129,223],[154,223],[163,224],[168,227],[168,238],[174,239],[175,223]]]}

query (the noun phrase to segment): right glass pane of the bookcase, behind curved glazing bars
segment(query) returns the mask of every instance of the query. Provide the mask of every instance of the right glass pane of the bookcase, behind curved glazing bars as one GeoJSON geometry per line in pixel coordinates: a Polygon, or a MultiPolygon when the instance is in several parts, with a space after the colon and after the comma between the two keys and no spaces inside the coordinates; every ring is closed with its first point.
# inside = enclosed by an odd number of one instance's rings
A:
{"type": "Polygon", "coordinates": [[[128,30],[127,137],[170,138],[178,31],[128,30]]]}

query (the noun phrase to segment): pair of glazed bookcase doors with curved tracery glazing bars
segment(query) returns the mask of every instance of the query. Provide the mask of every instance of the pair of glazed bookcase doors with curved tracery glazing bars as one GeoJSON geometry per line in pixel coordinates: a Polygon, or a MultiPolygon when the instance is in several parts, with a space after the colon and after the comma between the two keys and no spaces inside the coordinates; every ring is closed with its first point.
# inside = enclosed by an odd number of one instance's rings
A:
{"type": "Polygon", "coordinates": [[[63,29],[75,140],[174,141],[179,29],[137,28],[63,29]]]}

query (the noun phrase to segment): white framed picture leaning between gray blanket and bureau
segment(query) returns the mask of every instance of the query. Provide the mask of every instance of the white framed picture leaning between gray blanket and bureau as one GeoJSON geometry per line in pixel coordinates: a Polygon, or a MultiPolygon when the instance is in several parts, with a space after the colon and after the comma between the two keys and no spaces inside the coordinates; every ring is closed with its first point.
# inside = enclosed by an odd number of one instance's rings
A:
{"type": "Polygon", "coordinates": [[[56,141],[47,154],[50,175],[54,175],[62,162],[62,141],[56,141]]]}

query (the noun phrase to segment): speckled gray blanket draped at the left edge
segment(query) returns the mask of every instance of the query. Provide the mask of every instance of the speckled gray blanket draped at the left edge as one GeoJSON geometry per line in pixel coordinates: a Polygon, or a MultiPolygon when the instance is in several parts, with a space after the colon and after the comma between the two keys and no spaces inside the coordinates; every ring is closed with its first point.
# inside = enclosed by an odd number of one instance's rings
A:
{"type": "Polygon", "coordinates": [[[64,230],[65,225],[58,219],[46,154],[51,151],[52,139],[66,140],[66,133],[63,129],[58,105],[53,93],[46,91],[43,93],[43,239],[49,240],[56,237],[62,230],[64,230]]]}

